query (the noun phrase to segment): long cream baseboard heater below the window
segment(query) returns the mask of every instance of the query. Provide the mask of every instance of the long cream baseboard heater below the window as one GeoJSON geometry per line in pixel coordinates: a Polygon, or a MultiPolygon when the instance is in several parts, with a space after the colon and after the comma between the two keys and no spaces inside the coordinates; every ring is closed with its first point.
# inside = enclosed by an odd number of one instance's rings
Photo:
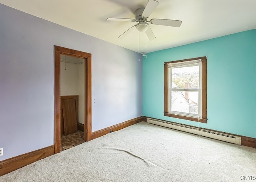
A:
{"type": "Polygon", "coordinates": [[[229,143],[234,143],[236,145],[241,145],[241,137],[239,137],[239,136],[227,135],[224,133],[218,133],[216,131],[210,131],[207,129],[201,129],[201,128],[197,128],[197,127],[193,127],[193,126],[187,126],[187,125],[182,125],[182,124],[178,124],[178,123],[172,123],[172,122],[168,122],[168,121],[152,119],[149,117],[148,117],[147,121],[148,121],[148,123],[151,123],[151,124],[168,127],[168,128],[172,128],[172,129],[176,129],[176,130],[180,130],[180,131],[185,131],[188,133],[193,133],[196,135],[201,135],[201,136],[212,138],[212,139],[226,141],[229,143]]]}

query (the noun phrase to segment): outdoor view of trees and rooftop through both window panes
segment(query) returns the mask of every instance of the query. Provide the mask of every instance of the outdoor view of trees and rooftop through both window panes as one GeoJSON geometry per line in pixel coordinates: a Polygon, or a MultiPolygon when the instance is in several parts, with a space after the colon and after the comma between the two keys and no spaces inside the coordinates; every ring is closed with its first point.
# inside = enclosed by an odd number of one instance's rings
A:
{"type": "MultiPolygon", "coordinates": [[[[199,66],[172,68],[172,88],[199,88],[199,66]]],[[[172,111],[198,114],[198,91],[171,92],[172,111]]]]}

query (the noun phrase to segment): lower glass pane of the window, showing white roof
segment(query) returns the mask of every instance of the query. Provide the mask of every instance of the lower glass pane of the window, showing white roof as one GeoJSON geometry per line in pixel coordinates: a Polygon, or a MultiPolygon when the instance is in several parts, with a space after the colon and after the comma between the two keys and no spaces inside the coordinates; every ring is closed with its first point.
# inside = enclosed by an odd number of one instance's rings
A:
{"type": "Polygon", "coordinates": [[[172,91],[172,111],[198,114],[198,92],[172,91]]]}

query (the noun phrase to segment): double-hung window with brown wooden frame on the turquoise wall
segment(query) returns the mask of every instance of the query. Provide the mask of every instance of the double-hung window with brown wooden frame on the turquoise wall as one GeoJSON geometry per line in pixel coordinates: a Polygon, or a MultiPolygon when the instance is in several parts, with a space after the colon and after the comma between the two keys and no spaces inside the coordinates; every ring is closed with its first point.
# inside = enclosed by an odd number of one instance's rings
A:
{"type": "Polygon", "coordinates": [[[206,57],[164,63],[164,115],[207,123],[206,57]]]}

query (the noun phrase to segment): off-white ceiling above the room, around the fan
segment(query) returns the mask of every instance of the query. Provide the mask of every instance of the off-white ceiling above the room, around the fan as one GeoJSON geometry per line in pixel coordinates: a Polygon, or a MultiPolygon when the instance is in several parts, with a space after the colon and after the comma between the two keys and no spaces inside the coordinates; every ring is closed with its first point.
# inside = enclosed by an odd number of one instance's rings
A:
{"type": "MultiPolygon", "coordinates": [[[[135,18],[148,0],[0,0],[0,3],[93,37],[139,52],[138,31],[118,36],[136,22],[106,18],[135,18]]],[[[156,39],[147,39],[147,52],[158,51],[256,28],[256,0],[158,0],[149,19],[182,20],[182,25],[150,25],[156,39]]],[[[140,33],[140,52],[145,51],[140,33]]]]}

